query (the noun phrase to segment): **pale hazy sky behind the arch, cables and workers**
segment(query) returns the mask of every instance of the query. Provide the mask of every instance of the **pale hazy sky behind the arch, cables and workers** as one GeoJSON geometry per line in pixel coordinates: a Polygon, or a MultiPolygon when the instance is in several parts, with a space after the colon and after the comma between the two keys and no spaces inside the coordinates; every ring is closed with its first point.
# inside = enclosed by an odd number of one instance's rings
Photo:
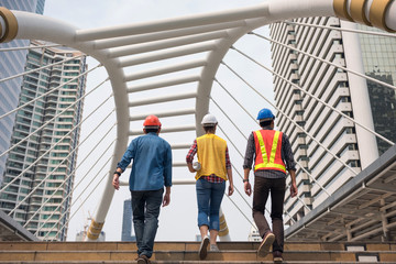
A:
{"type": "MultiPolygon", "coordinates": [[[[44,15],[52,16],[65,22],[68,22],[79,29],[96,29],[110,25],[119,24],[130,24],[139,23],[158,19],[175,18],[188,14],[196,14],[202,12],[220,11],[227,9],[233,9],[239,7],[248,7],[262,3],[262,0],[199,0],[199,1],[186,1],[186,0],[46,0],[44,15]]],[[[267,33],[267,29],[263,29],[264,34],[267,33]]],[[[268,43],[251,42],[250,40],[241,40],[235,44],[238,47],[243,47],[248,52],[258,52],[257,56],[262,56],[262,62],[265,62],[266,66],[271,65],[268,43]]],[[[233,56],[227,57],[230,63],[234,62],[233,56]]],[[[88,58],[89,68],[96,66],[98,63],[88,58]]],[[[246,66],[245,63],[234,63],[235,67],[245,68],[251,67],[246,66]]],[[[263,69],[246,68],[249,77],[254,79],[255,82],[262,85],[267,90],[267,97],[272,99],[272,76],[268,73],[264,73],[263,69]]],[[[263,108],[267,107],[265,102],[250,94],[248,91],[239,91],[238,87],[242,86],[241,81],[233,79],[235,77],[223,77],[227,74],[223,68],[219,69],[218,76],[219,79],[227,79],[231,82],[230,89],[234,89],[234,94],[239,97],[242,103],[245,105],[249,111],[252,114],[263,108]],[[238,84],[238,85],[237,85],[238,84]]],[[[229,73],[228,73],[229,74],[229,73]]],[[[87,91],[92,90],[98,84],[100,84],[107,77],[103,69],[98,69],[88,75],[87,91]]],[[[218,86],[212,89],[213,98],[218,98],[221,103],[230,106],[233,108],[234,102],[230,99],[224,99],[227,95],[218,86]]],[[[87,97],[85,101],[84,117],[88,117],[89,113],[95,111],[98,107],[98,102],[105,100],[111,95],[111,87],[109,81],[103,86],[99,87],[98,90],[92,91],[92,94],[87,97]]],[[[92,118],[87,120],[81,128],[81,138],[80,142],[87,139],[87,141],[79,147],[79,158],[78,164],[80,165],[76,173],[75,186],[76,190],[73,195],[74,206],[72,207],[73,218],[69,222],[68,230],[68,241],[74,241],[76,233],[82,231],[86,224],[89,224],[87,218],[95,216],[98,204],[101,199],[101,194],[103,191],[103,184],[106,180],[100,182],[100,178],[107,177],[109,169],[109,156],[111,156],[113,151],[113,145],[107,150],[107,146],[116,138],[116,130],[110,130],[109,134],[105,136],[105,132],[112,128],[114,124],[114,114],[110,116],[109,119],[103,119],[111,109],[114,108],[113,99],[110,98],[105,102],[105,109],[95,111],[92,118]],[[103,121],[103,124],[99,128],[98,132],[89,138],[88,134],[103,121]],[[102,138],[105,136],[105,138],[102,138]],[[94,151],[94,156],[87,158],[85,162],[82,158],[89,156],[89,153],[97,145],[97,148],[94,151]],[[103,153],[103,157],[101,157],[103,153]],[[98,161],[98,163],[96,163],[98,161]],[[96,163],[96,164],[95,164],[96,163]],[[92,189],[92,186],[98,185],[97,189],[92,189]],[[85,191],[86,190],[86,191],[85,191]],[[85,191],[85,193],[84,193],[85,191]],[[88,196],[88,193],[92,193],[91,196],[88,196]],[[80,195],[81,194],[81,195],[80,195]],[[86,201],[85,201],[86,200],[86,201]]],[[[210,106],[211,112],[213,112],[220,123],[223,124],[224,130],[232,130],[230,128],[230,121],[224,118],[224,113],[221,112],[213,103],[210,106]]],[[[256,123],[249,118],[244,117],[243,113],[238,112],[239,110],[233,110],[232,114],[234,119],[238,119],[242,122],[243,133],[249,134],[250,131],[256,129],[256,123]],[[240,118],[241,117],[241,118],[240,118]]],[[[164,121],[167,124],[167,120],[164,121]]],[[[170,124],[169,124],[170,125],[170,124]]],[[[238,132],[231,131],[232,136],[237,135],[238,132]]],[[[222,134],[219,131],[218,134],[222,134]]],[[[166,138],[164,135],[164,138],[166,138]]],[[[195,134],[191,133],[188,142],[194,141],[195,134]]],[[[166,139],[172,140],[172,139],[166,139]]],[[[235,140],[238,147],[244,152],[245,139],[240,138],[235,140]]],[[[237,158],[239,154],[237,148],[230,146],[230,156],[231,162],[239,168],[239,173],[242,173],[242,161],[237,158]]],[[[123,150],[122,150],[123,152],[123,150]]],[[[185,151],[176,151],[174,158],[183,161],[185,151]]],[[[127,180],[128,172],[123,179],[127,180]]],[[[175,168],[174,178],[194,178],[193,174],[189,174],[187,168],[175,168]]],[[[251,176],[252,178],[252,176],[251,176]]],[[[234,172],[234,183],[235,186],[243,193],[242,179],[234,172]]],[[[195,186],[174,186],[172,188],[170,205],[166,208],[162,208],[160,216],[160,228],[157,231],[156,240],[157,241],[194,241],[195,235],[199,233],[197,227],[197,206],[195,197],[195,186]]],[[[120,241],[121,238],[121,224],[122,224],[122,207],[123,200],[130,198],[130,193],[128,187],[122,187],[119,191],[116,191],[113,200],[111,202],[107,220],[105,222],[103,231],[106,232],[107,241],[120,241]]],[[[248,240],[249,232],[251,230],[251,222],[253,222],[251,217],[251,209],[246,205],[251,205],[251,197],[244,196],[245,201],[238,197],[235,194],[231,197],[234,201],[231,201],[228,197],[224,196],[222,210],[224,211],[226,219],[230,229],[230,237],[233,241],[245,241],[248,240]],[[242,205],[242,209],[237,209],[233,206],[233,202],[242,205]],[[248,219],[239,211],[242,210],[248,219]]]]}

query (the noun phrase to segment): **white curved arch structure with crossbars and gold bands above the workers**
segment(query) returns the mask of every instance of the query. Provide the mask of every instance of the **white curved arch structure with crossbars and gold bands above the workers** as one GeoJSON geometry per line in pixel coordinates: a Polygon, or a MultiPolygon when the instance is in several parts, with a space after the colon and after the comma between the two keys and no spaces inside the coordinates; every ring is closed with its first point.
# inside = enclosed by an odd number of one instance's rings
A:
{"type": "MultiPolygon", "coordinates": [[[[386,0],[270,0],[250,8],[94,30],[76,29],[65,22],[32,13],[9,12],[4,9],[0,12],[0,42],[34,38],[59,43],[95,57],[106,67],[117,106],[118,132],[114,150],[124,150],[129,136],[140,133],[130,131],[130,122],[143,120],[150,113],[160,118],[195,114],[195,123],[164,128],[162,132],[194,130],[198,135],[201,134],[199,121],[208,112],[213,78],[222,58],[235,41],[256,28],[294,18],[338,16],[389,32],[396,31],[396,2],[386,0]],[[193,54],[197,54],[198,58],[168,63],[139,73],[127,70],[134,65],[193,54]],[[188,69],[198,69],[199,74],[186,74],[188,69]],[[163,77],[169,73],[179,74],[177,78],[163,77]],[[155,81],[145,81],[150,77],[158,78],[155,81]],[[136,80],[139,85],[134,85],[136,80]],[[143,100],[129,99],[130,92],[189,82],[197,82],[197,90],[143,100]],[[133,111],[133,108],[139,106],[183,99],[195,99],[195,108],[161,112],[133,111]]],[[[111,168],[116,167],[121,156],[122,152],[114,151],[111,168]]],[[[100,207],[89,229],[90,240],[98,238],[105,222],[114,193],[111,179],[109,176],[100,207]]]]}

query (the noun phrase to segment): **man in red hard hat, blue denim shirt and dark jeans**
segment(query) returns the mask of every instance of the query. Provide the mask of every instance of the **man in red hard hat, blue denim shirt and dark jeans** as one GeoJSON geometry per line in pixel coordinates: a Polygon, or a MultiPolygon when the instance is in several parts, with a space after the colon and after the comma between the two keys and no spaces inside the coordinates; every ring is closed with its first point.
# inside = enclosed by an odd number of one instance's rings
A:
{"type": "Polygon", "coordinates": [[[129,185],[139,264],[151,263],[160,208],[169,205],[172,186],[172,151],[169,143],[158,136],[161,122],[157,117],[148,116],[143,127],[144,135],[130,143],[117,165],[112,182],[119,189],[119,177],[133,160],[129,185]]]}

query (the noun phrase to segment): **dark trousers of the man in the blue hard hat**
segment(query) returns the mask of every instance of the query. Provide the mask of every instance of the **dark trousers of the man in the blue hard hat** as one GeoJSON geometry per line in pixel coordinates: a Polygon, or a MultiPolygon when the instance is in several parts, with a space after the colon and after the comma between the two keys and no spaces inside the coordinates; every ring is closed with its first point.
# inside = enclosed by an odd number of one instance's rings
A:
{"type": "Polygon", "coordinates": [[[283,208],[285,199],[286,179],[285,178],[263,178],[254,177],[253,191],[253,219],[258,228],[260,235],[263,238],[265,232],[271,231],[265,219],[265,204],[271,194],[271,219],[275,242],[273,251],[283,252],[284,249],[284,223],[283,208]]]}

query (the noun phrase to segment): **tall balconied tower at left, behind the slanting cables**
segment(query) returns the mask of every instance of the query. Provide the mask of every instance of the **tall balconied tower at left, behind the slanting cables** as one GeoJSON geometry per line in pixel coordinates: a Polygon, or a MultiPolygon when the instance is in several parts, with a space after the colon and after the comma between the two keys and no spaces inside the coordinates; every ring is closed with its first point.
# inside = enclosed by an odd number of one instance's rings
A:
{"type": "Polygon", "coordinates": [[[70,48],[33,48],[25,70],[54,63],[23,77],[19,106],[38,99],[16,112],[0,209],[38,239],[65,241],[86,88],[79,75],[87,65],[70,48]]]}

